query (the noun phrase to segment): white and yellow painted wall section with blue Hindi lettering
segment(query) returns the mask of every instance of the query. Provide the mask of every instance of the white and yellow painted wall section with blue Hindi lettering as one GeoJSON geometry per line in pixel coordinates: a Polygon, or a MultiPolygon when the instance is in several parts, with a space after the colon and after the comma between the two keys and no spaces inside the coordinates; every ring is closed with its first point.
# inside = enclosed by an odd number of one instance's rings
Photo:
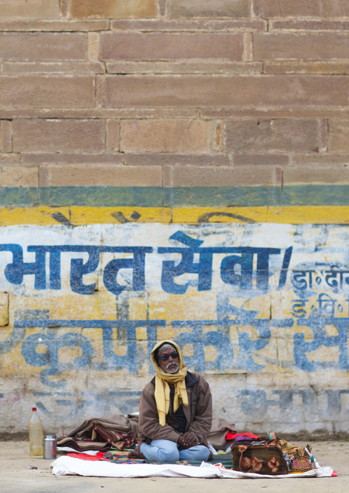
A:
{"type": "Polygon", "coordinates": [[[25,429],[33,402],[50,429],[135,411],[164,338],[239,428],[348,429],[345,226],[14,225],[0,238],[0,431],[25,429]]]}

